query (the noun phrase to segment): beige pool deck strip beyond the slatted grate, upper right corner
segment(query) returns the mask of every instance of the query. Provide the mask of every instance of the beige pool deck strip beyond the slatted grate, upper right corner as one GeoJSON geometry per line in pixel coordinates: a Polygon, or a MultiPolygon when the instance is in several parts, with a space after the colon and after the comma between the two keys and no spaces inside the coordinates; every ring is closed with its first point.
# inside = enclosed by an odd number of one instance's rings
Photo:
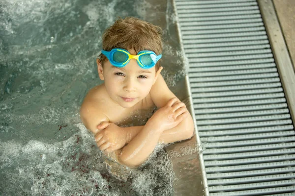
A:
{"type": "Polygon", "coordinates": [[[289,111],[295,122],[295,1],[258,0],[267,36],[284,88],[289,111]],[[289,8],[287,8],[289,7],[289,8]],[[293,21],[292,21],[293,19],[293,21]]]}

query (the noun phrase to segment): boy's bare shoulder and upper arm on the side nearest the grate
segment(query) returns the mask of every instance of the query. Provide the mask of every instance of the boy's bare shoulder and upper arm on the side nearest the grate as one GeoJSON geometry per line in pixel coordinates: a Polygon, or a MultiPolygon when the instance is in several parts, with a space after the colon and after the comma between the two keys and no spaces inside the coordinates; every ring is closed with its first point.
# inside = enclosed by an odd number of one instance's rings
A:
{"type": "Polygon", "coordinates": [[[174,93],[168,88],[163,76],[159,74],[156,82],[150,89],[150,97],[157,108],[161,108],[167,104],[171,98],[175,98],[174,93]]]}

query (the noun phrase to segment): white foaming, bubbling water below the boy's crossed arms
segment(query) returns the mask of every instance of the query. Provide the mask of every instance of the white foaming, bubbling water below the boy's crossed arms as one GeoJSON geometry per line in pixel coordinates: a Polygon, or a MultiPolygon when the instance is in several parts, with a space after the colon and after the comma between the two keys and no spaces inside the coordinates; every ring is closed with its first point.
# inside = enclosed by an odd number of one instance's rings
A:
{"type": "Polygon", "coordinates": [[[1,195],[169,196],[174,172],[168,154],[158,145],[146,163],[120,179],[106,167],[106,157],[93,135],[79,123],[67,140],[30,140],[25,146],[0,143],[1,195]]]}

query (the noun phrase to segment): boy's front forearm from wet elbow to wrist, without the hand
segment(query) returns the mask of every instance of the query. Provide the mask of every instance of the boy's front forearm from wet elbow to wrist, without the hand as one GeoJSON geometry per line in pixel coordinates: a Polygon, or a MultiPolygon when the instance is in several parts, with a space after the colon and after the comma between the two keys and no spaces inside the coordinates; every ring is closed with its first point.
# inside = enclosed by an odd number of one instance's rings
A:
{"type": "Polygon", "coordinates": [[[139,166],[152,153],[161,133],[162,131],[157,127],[147,123],[129,144],[122,148],[118,157],[119,161],[130,167],[139,166]]]}

